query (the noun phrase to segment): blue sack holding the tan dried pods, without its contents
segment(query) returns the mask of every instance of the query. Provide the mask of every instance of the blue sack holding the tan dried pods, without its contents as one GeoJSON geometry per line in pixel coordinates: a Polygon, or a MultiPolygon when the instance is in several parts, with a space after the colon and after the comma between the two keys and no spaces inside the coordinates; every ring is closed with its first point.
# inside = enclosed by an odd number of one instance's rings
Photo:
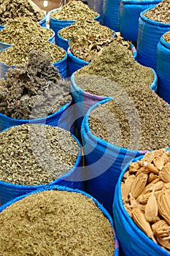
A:
{"type": "MultiPolygon", "coordinates": [[[[131,160],[136,162],[142,157],[131,160]]],[[[128,170],[129,163],[121,172],[115,188],[114,203],[112,206],[115,230],[120,242],[120,250],[123,256],[169,256],[169,252],[155,244],[139,227],[134,223],[123,206],[121,197],[121,181],[124,173],[128,170]]]]}

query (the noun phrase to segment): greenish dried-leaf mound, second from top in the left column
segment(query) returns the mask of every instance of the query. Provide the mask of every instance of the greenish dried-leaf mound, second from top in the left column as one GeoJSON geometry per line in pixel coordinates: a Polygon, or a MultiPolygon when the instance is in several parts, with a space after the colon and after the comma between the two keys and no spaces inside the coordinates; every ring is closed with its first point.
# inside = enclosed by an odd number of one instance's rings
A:
{"type": "Polygon", "coordinates": [[[42,28],[31,18],[16,18],[13,20],[9,26],[0,31],[0,42],[7,44],[18,44],[18,41],[23,43],[32,41],[32,39],[50,39],[53,36],[53,31],[51,29],[42,28]]]}

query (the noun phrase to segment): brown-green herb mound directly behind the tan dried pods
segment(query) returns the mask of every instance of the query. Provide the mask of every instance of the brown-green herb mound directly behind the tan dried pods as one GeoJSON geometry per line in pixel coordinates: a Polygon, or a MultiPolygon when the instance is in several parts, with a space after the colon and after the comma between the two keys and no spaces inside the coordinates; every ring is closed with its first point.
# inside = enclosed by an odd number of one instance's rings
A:
{"type": "Polygon", "coordinates": [[[115,97],[90,113],[89,126],[99,138],[133,150],[170,145],[170,108],[152,89],[117,87],[115,97]]]}

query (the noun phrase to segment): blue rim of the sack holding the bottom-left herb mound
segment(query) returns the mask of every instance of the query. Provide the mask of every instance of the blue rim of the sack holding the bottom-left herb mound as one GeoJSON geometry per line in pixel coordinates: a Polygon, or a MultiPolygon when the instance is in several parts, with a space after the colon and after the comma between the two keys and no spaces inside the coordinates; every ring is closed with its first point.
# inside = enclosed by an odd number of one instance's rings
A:
{"type": "Polygon", "coordinates": [[[104,206],[102,206],[101,203],[99,203],[96,200],[96,198],[92,197],[91,195],[88,195],[87,193],[85,193],[84,191],[81,191],[80,189],[72,189],[72,188],[69,188],[69,187],[58,186],[58,185],[57,186],[53,185],[53,186],[44,187],[42,189],[38,189],[38,190],[35,190],[34,192],[28,193],[27,195],[22,195],[20,197],[16,197],[14,200],[11,200],[8,203],[6,203],[3,206],[1,206],[0,207],[0,212],[3,211],[8,206],[12,205],[12,203],[18,202],[18,200],[22,200],[23,198],[27,197],[28,195],[32,195],[32,194],[35,194],[35,193],[43,192],[45,190],[56,190],[56,189],[59,190],[59,191],[79,193],[79,194],[84,195],[85,197],[88,197],[91,200],[93,200],[93,203],[95,203],[95,205],[104,214],[104,216],[108,219],[110,225],[112,226],[114,242],[115,242],[115,248],[114,248],[113,256],[118,256],[119,255],[119,243],[118,243],[117,236],[116,236],[116,233],[115,233],[115,228],[114,228],[114,224],[113,224],[112,218],[110,217],[109,213],[104,208],[104,206]]]}

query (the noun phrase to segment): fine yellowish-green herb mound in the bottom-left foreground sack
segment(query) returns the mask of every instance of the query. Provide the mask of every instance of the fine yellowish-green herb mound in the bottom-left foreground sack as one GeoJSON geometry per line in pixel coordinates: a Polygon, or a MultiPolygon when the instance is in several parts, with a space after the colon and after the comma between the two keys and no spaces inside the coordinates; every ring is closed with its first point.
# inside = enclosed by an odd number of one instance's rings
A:
{"type": "Polygon", "coordinates": [[[29,195],[1,212],[0,225],[1,256],[114,254],[109,220],[91,199],[76,192],[29,195]]]}

